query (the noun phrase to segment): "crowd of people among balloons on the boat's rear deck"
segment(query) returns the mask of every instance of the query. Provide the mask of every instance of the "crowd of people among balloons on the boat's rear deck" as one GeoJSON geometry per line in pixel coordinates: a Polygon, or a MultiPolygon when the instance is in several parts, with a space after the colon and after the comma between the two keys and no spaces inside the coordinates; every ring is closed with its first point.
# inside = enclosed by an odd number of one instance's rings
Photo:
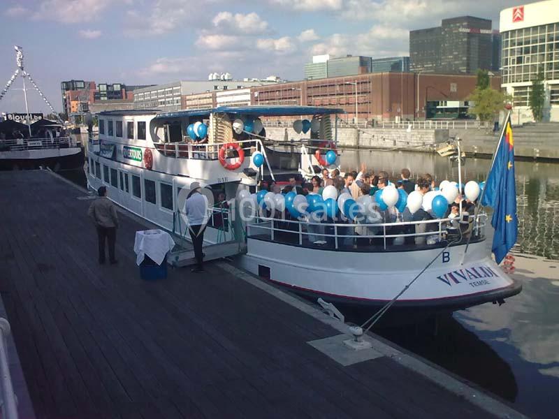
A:
{"type": "MultiPolygon", "coordinates": [[[[403,189],[406,194],[412,193],[413,191],[419,191],[422,196],[425,196],[426,193],[429,191],[435,191],[438,188],[435,184],[435,179],[429,173],[425,173],[423,175],[419,175],[416,179],[412,179],[412,175],[409,169],[403,168],[400,170],[400,175],[398,179],[391,179],[389,173],[381,170],[379,172],[375,172],[375,170],[367,170],[365,164],[361,164],[361,168],[359,170],[351,170],[345,172],[343,176],[340,175],[340,170],[328,170],[324,168],[321,170],[320,175],[315,175],[310,179],[310,182],[305,182],[301,177],[297,179],[296,177],[290,177],[289,183],[281,186],[276,182],[262,182],[261,188],[267,189],[273,193],[289,193],[290,191],[296,191],[298,194],[302,194],[303,196],[307,196],[310,194],[322,194],[322,191],[326,186],[333,185],[335,189],[337,189],[338,196],[342,193],[349,193],[351,198],[358,201],[359,198],[363,196],[371,196],[372,201],[375,202],[375,193],[379,190],[386,188],[389,185],[395,186],[397,189],[403,189]]],[[[463,216],[463,219],[466,219],[465,216],[469,216],[474,214],[474,206],[476,203],[467,200],[463,194],[458,193],[458,196],[454,200],[454,202],[449,203],[448,209],[446,214],[444,214],[444,219],[451,219],[448,223],[446,228],[448,228],[450,232],[458,232],[460,227],[460,216],[463,216]],[[462,211],[460,214],[460,210],[462,211]]],[[[420,208],[416,212],[412,214],[408,207],[405,207],[403,212],[398,211],[396,207],[389,207],[386,210],[379,210],[377,208],[377,214],[379,215],[377,219],[371,219],[370,217],[364,217],[361,220],[354,220],[349,221],[341,217],[338,219],[329,219],[328,217],[323,217],[323,219],[319,220],[322,223],[356,223],[362,224],[363,227],[351,227],[351,228],[337,228],[337,234],[339,235],[362,235],[362,236],[372,236],[378,235],[382,228],[371,226],[374,223],[400,223],[400,222],[409,222],[409,221],[428,221],[428,220],[435,220],[437,217],[433,214],[431,210],[425,210],[420,208]],[[347,230],[347,231],[346,231],[347,230]]],[[[278,212],[275,210],[275,214],[270,214],[268,212],[268,216],[272,216],[275,219],[286,219],[292,220],[293,217],[289,214],[289,211],[284,210],[283,212],[278,212]]],[[[312,219],[311,221],[316,222],[317,220],[312,219]]],[[[467,224],[467,221],[463,222],[467,224]]],[[[284,226],[285,227],[285,226],[284,226]]],[[[286,226],[289,228],[289,226],[286,226]]],[[[319,226],[320,227],[320,226],[319,226]]],[[[313,230],[313,233],[319,233],[316,226],[308,226],[310,230],[313,230]]],[[[439,229],[438,223],[423,223],[423,224],[415,224],[415,225],[395,225],[393,227],[384,228],[386,230],[386,235],[399,235],[399,234],[408,234],[410,236],[407,237],[396,237],[395,240],[391,239],[390,242],[394,244],[421,244],[426,242],[426,236],[423,235],[421,237],[414,237],[414,234],[417,233],[428,233],[430,231],[437,231],[439,229]],[[401,240],[398,240],[401,239],[401,240]]],[[[319,228],[320,230],[320,228],[319,228]]],[[[321,230],[324,230],[321,229],[321,230]]],[[[310,240],[316,237],[310,236],[310,240]]],[[[363,239],[357,238],[357,240],[351,239],[351,242],[356,244],[375,244],[375,239],[370,237],[364,237],[363,239]]],[[[377,240],[378,242],[378,240],[377,240]]]]}

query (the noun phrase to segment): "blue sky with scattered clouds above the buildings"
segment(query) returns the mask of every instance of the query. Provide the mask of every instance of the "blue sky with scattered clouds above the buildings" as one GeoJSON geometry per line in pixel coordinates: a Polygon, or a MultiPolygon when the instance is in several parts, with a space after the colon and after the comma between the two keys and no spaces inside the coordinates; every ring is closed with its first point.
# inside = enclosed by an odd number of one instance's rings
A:
{"type": "MultiPolygon", "coordinates": [[[[409,30],[447,17],[493,20],[516,0],[2,0],[0,85],[25,69],[55,110],[60,82],[158,84],[277,75],[301,80],[312,55],[391,57],[409,54],[409,30]]],[[[22,80],[0,112],[22,112],[22,80]],[[19,89],[19,90],[17,90],[19,89]]],[[[50,110],[29,91],[30,112],[50,110]]]]}

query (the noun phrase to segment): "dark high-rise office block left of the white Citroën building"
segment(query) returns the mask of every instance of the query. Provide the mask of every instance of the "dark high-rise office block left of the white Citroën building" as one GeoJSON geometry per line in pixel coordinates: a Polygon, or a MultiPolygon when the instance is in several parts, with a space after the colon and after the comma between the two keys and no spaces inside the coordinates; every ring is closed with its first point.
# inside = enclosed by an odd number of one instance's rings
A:
{"type": "Polygon", "coordinates": [[[412,71],[422,73],[475,73],[478,68],[497,71],[499,42],[491,20],[462,16],[442,20],[440,27],[409,31],[412,71]]]}

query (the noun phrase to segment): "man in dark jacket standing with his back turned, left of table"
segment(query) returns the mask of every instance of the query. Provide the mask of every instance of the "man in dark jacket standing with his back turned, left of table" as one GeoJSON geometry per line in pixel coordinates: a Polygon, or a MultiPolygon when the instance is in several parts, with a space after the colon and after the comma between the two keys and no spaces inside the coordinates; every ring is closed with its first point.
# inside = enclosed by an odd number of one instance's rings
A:
{"type": "Polygon", "coordinates": [[[107,198],[106,186],[97,189],[99,198],[93,201],[89,206],[87,215],[89,215],[97,228],[97,236],[99,237],[99,263],[105,263],[105,240],[109,244],[109,261],[111,264],[118,263],[115,259],[115,242],[117,240],[117,207],[107,198]]]}

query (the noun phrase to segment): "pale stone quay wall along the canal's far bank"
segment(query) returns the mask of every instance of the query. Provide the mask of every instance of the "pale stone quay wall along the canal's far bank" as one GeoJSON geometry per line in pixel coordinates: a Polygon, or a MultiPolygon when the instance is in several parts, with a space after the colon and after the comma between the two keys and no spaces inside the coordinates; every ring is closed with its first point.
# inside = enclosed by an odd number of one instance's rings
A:
{"type": "MultiPolygon", "coordinates": [[[[291,128],[267,127],[269,138],[298,139],[291,128]]],[[[495,151],[499,133],[487,128],[337,128],[338,147],[344,149],[401,149],[414,152],[435,152],[437,145],[459,137],[464,152],[470,155],[491,156],[495,151]]],[[[538,124],[513,129],[514,154],[518,159],[559,161],[559,124],[538,124]]]]}

